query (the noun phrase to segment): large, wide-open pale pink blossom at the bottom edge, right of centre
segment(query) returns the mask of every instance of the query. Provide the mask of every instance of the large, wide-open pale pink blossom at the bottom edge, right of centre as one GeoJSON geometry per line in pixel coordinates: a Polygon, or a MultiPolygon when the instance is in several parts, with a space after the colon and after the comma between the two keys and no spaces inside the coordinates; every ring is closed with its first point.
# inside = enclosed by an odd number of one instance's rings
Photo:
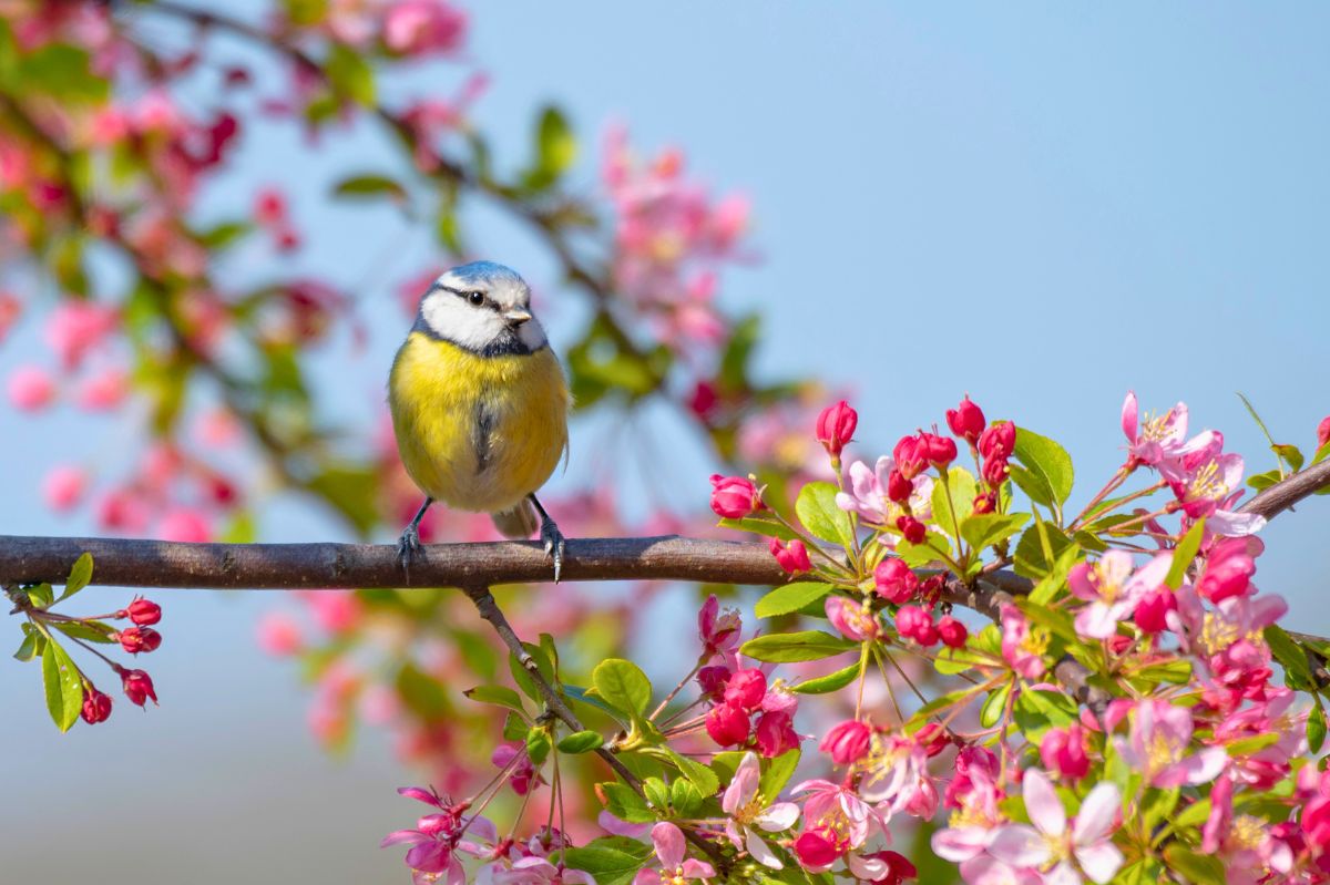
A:
{"type": "Polygon", "coordinates": [[[1036,868],[1044,881],[1072,885],[1081,877],[1072,858],[1092,882],[1103,885],[1123,865],[1123,852],[1112,840],[1123,805],[1117,784],[1096,784],[1067,829],[1067,811],[1048,776],[1037,768],[1025,772],[1021,781],[1025,812],[1033,827],[1008,824],[994,831],[988,853],[1004,864],[1036,868]]]}

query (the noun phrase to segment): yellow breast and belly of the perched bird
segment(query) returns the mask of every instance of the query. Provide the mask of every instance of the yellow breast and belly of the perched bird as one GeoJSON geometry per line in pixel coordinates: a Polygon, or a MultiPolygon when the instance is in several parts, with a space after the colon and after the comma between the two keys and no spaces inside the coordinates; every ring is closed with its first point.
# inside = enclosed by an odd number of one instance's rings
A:
{"type": "Polygon", "coordinates": [[[549,478],[568,445],[568,385],[551,349],[477,356],[411,332],[388,408],[402,464],[448,506],[497,513],[549,478]]]}

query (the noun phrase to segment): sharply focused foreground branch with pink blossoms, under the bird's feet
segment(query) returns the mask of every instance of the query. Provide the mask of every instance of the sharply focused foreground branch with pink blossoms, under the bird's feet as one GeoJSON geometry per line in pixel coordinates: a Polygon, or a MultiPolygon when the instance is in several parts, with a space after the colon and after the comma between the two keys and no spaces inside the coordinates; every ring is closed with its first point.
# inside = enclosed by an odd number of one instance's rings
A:
{"type": "MultiPolygon", "coordinates": [[[[509,651],[512,686],[466,692],[504,711],[507,743],[485,787],[460,800],[402,791],[435,808],[384,840],[410,845],[418,881],[485,868],[511,882],[831,873],[898,884],[942,861],[972,885],[1327,880],[1330,791],[1307,763],[1326,730],[1313,662],[1330,642],[1278,627],[1285,603],[1252,578],[1264,551],[1254,533],[1330,488],[1330,440],[1318,439],[1310,464],[1278,446],[1281,478],[1254,478],[1262,492],[1241,504],[1242,460],[1217,433],[1189,437],[1181,404],[1142,423],[1128,396],[1127,460],[1072,514],[1067,452],[1011,421],[990,424],[968,399],[947,413],[954,436],[903,437],[872,468],[842,462],[857,423],[845,403],[822,413],[814,436],[843,478],[803,484],[793,506],[751,480],[712,478],[721,525],[766,543],[571,546],[569,578],[775,585],[755,605],[769,630],[746,642],[739,614],[710,597],[697,659],[664,692],[621,658],[576,679],[553,635],[519,637],[489,583],[540,579],[535,545],[428,549],[412,575],[466,590],[509,651]],[[962,446],[975,473],[956,464],[962,446]],[[958,605],[998,623],[975,633],[958,605]],[[797,629],[809,618],[831,631],[797,629]],[[822,710],[801,711],[810,700],[822,710]],[[815,763],[803,752],[813,738],[815,763]],[[601,835],[577,840],[568,772],[588,753],[613,779],[595,787],[601,835]],[[839,773],[786,797],[809,765],[839,773]],[[491,811],[505,787],[523,799],[500,836],[491,811]],[[547,787],[548,816],[519,838],[547,787]],[[952,809],[946,827],[934,823],[939,807],[952,809]],[[911,827],[931,832],[932,854],[886,848],[911,827]]],[[[188,586],[246,575],[271,586],[283,574],[294,586],[354,583],[375,559],[391,562],[387,547],[354,545],[9,540],[0,571],[56,567],[80,543],[106,545],[112,563],[118,549],[153,585],[161,573],[188,586]]],[[[69,586],[92,571],[81,558],[69,586]]],[[[48,585],[11,595],[48,635],[47,667],[49,629],[84,621],[52,613],[48,585]]],[[[146,601],[118,617],[138,610],[160,617],[146,601]]]]}

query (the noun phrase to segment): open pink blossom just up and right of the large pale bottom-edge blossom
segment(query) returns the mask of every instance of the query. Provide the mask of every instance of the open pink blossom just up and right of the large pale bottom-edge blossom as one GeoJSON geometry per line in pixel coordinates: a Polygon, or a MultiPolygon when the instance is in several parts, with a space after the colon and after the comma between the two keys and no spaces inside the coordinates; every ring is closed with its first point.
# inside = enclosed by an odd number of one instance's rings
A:
{"type": "Polygon", "coordinates": [[[1142,700],[1132,711],[1130,739],[1120,745],[1127,764],[1160,789],[1205,784],[1224,769],[1222,747],[1188,753],[1192,743],[1192,711],[1166,700],[1142,700]]]}

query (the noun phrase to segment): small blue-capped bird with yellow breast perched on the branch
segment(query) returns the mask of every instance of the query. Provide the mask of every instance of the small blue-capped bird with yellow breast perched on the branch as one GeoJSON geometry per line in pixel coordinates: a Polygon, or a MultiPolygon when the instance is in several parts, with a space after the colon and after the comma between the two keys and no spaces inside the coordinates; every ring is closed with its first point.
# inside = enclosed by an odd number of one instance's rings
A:
{"type": "Polygon", "coordinates": [[[563,567],[564,537],[536,500],[568,449],[568,384],[531,312],[531,288],[493,262],[434,282],[392,361],[388,408],[407,474],[424,504],[402,533],[403,567],[435,501],[489,513],[509,538],[540,538],[563,567]]]}

